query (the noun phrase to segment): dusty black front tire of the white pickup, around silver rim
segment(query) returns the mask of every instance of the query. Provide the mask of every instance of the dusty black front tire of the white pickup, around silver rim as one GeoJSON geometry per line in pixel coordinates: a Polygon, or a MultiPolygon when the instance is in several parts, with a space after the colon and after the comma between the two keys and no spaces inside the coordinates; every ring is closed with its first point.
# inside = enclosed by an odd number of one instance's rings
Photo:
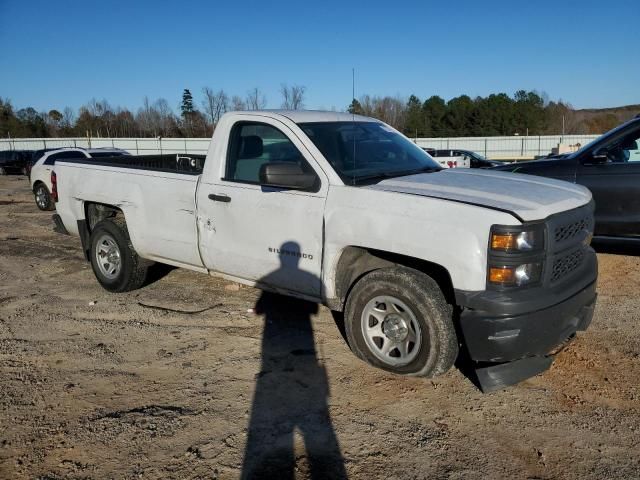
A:
{"type": "MultiPolygon", "coordinates": [[[[383,305],[382,303],[378,305],[383,305]]],[[[384,306],[384,309],[387,307],[384,306]]],[[[368,312],[370,309],[367,310],[368,312]]],[[[377,310],[376,310],[377,311],[377,310]]],[[[405,315],[405,310],[400,313],[390,312],[397,315],[405,315]]],[[[383,312],[382,315],[385,315],[383,312]]],[[[389,315],[381,323],[381,330],[384,331],[384,324],[389,315]]],[[[458,340],[452,320],[452,307],[447,303],[442,290],[438,284],[428,275],[406,267],[389,267],[375,270],[362,277],[352,288],[347,298],[345,308],[345,330],[347,341],[353,353],[365,362],[374,367],[387,370],[389,372],[433,377],[449,370],[458,356],[458,340]],[[411,350],[407,355],[407,363],[390,365],[387,361],[379,358],[382,350],[379,348],[376,354],[375,346],[370,346],[365,339],[365,322],[371,327],[371,322],[375,325],[377,320],[373,317],[365,316],[363,313],[367,305],[375,302],[374,299],[381,297],[397,299],[398,303],[408,307],[410,314],[409,324],[417,323],[419,328],[412,328],[414,336],[419,338],[419,343],[413,344],[413,348],[419,345],[417,352],[411,350]]],[[[386,333],[385,333],[386,335],[386,333]]],[[[371,343],[373,340],[370,340],[371,343]]],[[[387,338],[382,337],[382,342],[387,338]]],[[[406,340],[405,340],[406,341],[406,340]]],[[[391,345],[394,343],[391,342],[391,345]]],[[[382,343],[384,346],[384,343],[382,343]]],[[[411,348],[408,344],[406,351],[411,348]]],[[[403,361],[400,350],[395,350],[399,358],[393,361],[403,361]]],[[[385,357],[387,360],[393,351],[385,357]]]]}

